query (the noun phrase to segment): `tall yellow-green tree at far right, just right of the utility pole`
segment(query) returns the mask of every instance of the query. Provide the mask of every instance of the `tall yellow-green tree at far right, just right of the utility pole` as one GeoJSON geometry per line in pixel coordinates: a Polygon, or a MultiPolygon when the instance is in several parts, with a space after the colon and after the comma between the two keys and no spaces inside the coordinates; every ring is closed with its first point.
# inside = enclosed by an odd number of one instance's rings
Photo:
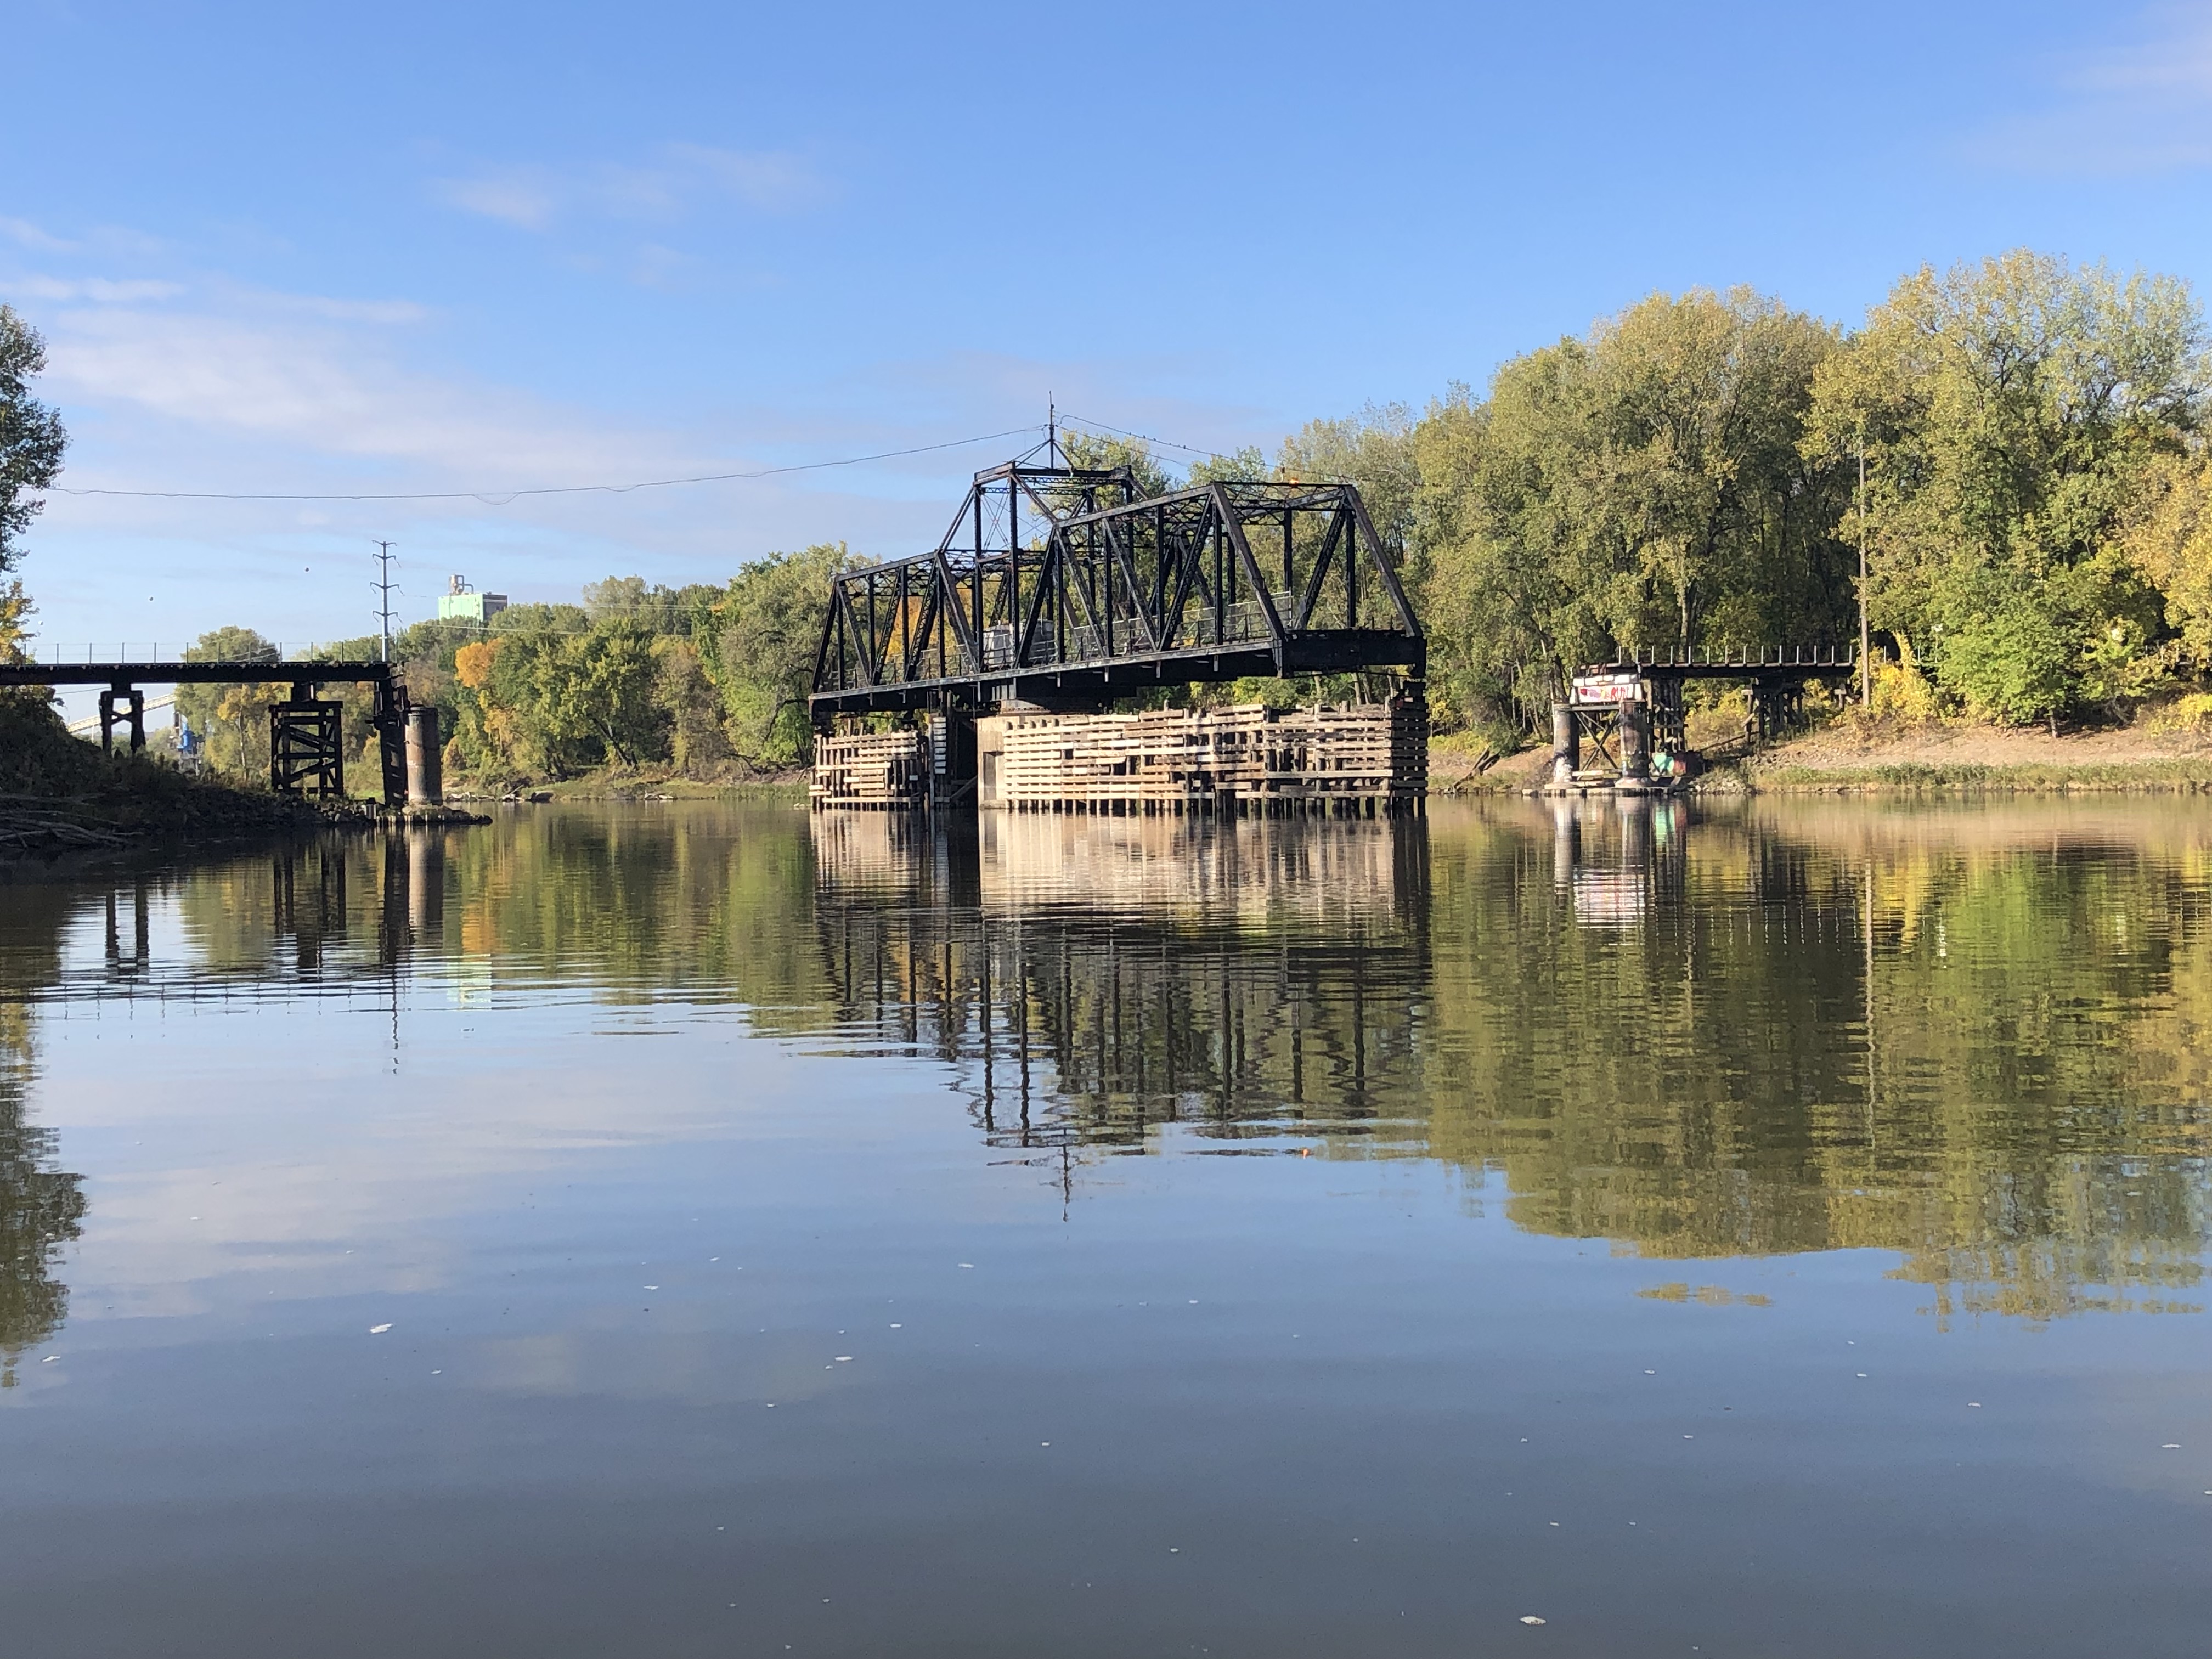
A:
{"type": "Polygon", "coordinates": [[[1865,445],[1876,626],[1971,708],[2055,721],[2141,688],[2166,617],[2126,529],[2205,389],[2188,283],[2013,250],[1898,281],[1820,365],[1803,447],[1865,445]]]}

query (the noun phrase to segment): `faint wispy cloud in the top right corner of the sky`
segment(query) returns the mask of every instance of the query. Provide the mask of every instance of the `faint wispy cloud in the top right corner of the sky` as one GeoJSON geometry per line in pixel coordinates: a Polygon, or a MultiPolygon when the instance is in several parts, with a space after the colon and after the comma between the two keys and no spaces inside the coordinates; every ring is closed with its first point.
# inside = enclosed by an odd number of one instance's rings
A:
{"type": "Polygon", "coordinates": [[[2132,40],[2075,58],[2039,111],[1969,142],[2026,173],[2172,173],[2212,166],[2212,2],[2139,15],[2132,40]]]}

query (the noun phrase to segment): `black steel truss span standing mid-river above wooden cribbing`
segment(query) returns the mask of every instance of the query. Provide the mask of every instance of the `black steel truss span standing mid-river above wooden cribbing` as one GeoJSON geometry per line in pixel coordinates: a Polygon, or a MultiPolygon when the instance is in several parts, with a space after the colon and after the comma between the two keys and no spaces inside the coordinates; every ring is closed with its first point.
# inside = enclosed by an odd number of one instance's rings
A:
{"type": "Polygon", "coordinates": [[[832,582],[810,701],[827,726],[1425,666],[1420,622],[1352,484],[1210,482],[1141,498],[1128,467],[1022,458],[975,473],[931,553],[832,582]]]}

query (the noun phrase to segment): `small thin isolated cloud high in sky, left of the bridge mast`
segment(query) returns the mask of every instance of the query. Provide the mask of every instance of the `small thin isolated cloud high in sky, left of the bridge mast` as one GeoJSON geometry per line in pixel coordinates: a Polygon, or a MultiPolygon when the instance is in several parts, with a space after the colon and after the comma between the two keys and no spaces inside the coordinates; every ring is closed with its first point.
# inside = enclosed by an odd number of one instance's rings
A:
{"type": "Polygon", "coordinates": [[[551,230],[566,217],[679,219],[712,201],[739,201],[759,212],[796,212],[827,199],[814,166],[792,150],[723,150],[670,144],[657,161],[602,161],[573,173],[542,166],[489,166],[436,179],[447,206],[518,230],[551,230]]]}

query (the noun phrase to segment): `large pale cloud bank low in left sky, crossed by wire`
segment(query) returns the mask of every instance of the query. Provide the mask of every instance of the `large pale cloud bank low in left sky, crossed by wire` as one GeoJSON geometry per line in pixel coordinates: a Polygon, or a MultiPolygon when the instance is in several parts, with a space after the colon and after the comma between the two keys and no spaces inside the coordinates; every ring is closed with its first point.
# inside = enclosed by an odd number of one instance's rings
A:
{"type": "MultiPolygon", "coordinates": [[[[93,239],[86,248],[95,248],[93,239]]],[[[84,257],[88,265],[88,254],[84,257]]],[[[1119,425],[1225,442],[1225,411],[1135,396],[1188,365],[1042,365],[931,356],[790,385],[741,376],[677,398],[666,418],[571,405],[451,367],[440,319],[405,299],[288,294],[226,272],[117,254],[108,270],[51,274],[38,325],[42,394],[71,429],[27,568],[49,639],[192,637],[248,619],[276,639],[361,633],[367,538],[396,538],[405,604],[429,606],[442,573],[524,597],[573,597],[608,573],[723,580],[750,557],[849,540],[867,553],[929,546],[967,473],[1022,438],[867,467],[633,493],[502,495],[524,487],[635,484],[936,445],[1040,418],[1046,387],[1119,425]],[[142,283],[122,272],[175,276],[142,283]],[[1203,436],[1190,436],[1203,434],[1203,436]],[[73,489],[376,495],[484,491],[482,500],[159,500],[73,489]],[[312,568],[310,568],[312,566],[312,568]],[[434,573],[434,575],[425,575],[434,573]]],[[[679,250],[644,243],[606,270],[681,281],[679,250]],[[624,263],[628,261],[628,263],[624,263]]],[[[7,285],[0,283],[0,294],[7,285]]],[[[451,319],[442,319],[453,327],[451,319]]],[[[1186,376],[1188,378],[1188,376],[1186,376]]],[[[611,392],[611,398],[619,396],[611,392]]],[[[668,398],[661,400],[668,405],[668,398]]],[[[1248,411],[1245,411],[1248,414],[1248,411]]]]}

